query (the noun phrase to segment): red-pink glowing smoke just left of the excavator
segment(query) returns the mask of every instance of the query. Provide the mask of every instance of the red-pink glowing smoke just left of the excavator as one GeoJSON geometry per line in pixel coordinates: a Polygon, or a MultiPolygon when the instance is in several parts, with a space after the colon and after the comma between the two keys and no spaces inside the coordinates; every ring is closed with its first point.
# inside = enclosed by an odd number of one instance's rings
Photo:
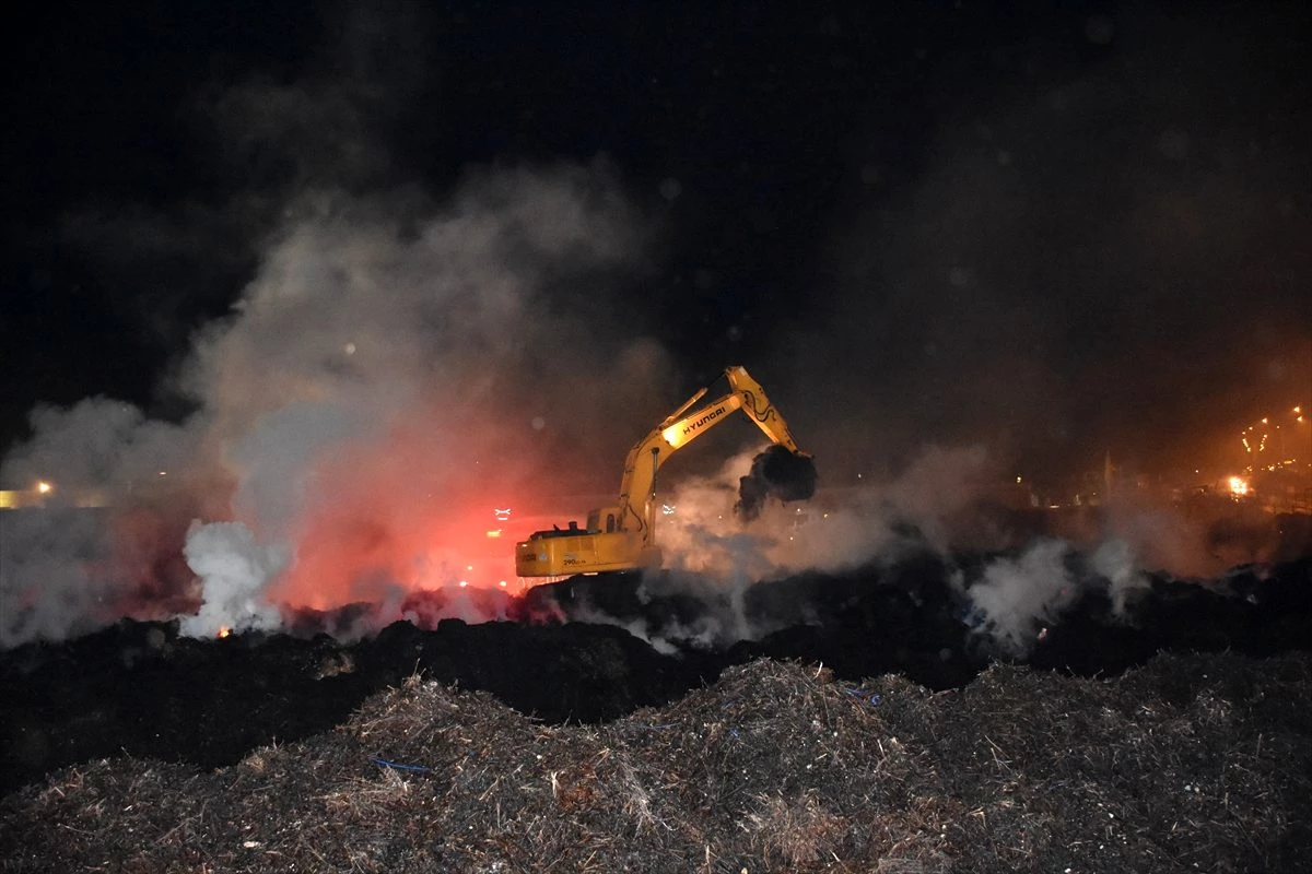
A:
{"type": "Polygon", "coordinates": [[[462,618],[504,604],[525,587],[516,541],[579,512],[543,520],[554,482],[523,463],[537,449],[518,435],[485,411],[421,402],[384,434],[337,447],[314,464],[297,515],[277,535],[290,554],[264,598],[290,611],[417,598],[451,604],[462,618]],[[462,439],[436,439],[461,413],[462,439]]]}

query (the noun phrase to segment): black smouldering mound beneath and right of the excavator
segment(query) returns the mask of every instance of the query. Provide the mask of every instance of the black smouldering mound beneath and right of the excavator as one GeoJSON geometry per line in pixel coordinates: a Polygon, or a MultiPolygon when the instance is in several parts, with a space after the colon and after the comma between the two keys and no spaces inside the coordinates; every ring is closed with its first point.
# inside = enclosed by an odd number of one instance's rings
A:
{"type": "Polygon", "coordinates": [[[618,625],[670,654],[824,662],[960,687],[993,660],[1085,676],[1158,650],[1266,656],[1312,649],[1312,558],[1215,580],[1127,579],[1106,552],[1040,541],[1015,556],[913,552],[845,573],[739,588],[686,574],[577,577],[529,592],[529,615],[618,625]]]}

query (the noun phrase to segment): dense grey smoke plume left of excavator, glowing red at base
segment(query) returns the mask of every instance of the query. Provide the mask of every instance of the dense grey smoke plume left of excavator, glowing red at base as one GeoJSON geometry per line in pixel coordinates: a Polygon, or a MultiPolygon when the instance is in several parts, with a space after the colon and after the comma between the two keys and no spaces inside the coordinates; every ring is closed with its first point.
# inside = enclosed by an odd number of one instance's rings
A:
{"type": "MultiPolygon", "coordinates": [[[[105,493],[110,515],[163,512],[165,485],[181,494],[195,514],[185,518],[207,523],[186,535],[202,582],[188,592],[203,604],[193,633],[268,626],[277,603],[455,586],[493,549],[509,563],[504,542],[478,542],[492,507],[529,474],[550,484],[564,439],[619,453],[577,427],[609,394],[588,375],[623,381],[630,401],[666,375],[659,346],[607,339],[551,296],[552,283],[596,283],[636,252],[639,221],[604,168],[475,174],[420,216],[411,202],[405,221],[390,206],[298,203],[232,316],[198,338],[188,421],[98,398],[39,410],[35,438],[5,463],[9,480],[105,493]]],[[[83,628],[88,598],[131,601],[136,583],[104,566],[106,544],[54,525],[24,536],[22,552],[7,537],[0,643],[83,628]]]]}

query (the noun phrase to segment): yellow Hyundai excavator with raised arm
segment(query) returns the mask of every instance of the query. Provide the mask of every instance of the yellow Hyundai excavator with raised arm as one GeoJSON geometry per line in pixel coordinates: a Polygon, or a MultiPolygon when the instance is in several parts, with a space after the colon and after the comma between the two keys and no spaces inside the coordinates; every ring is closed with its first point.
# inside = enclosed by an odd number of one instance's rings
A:
{"type": "Polygon", "coordinates": [[[765,396],[765,389],[744,367],[724,371],[729,392],[689,413],[710,387],[687,398],[651,434],[628,451],[619,501],[588,514],[588,527],[538,531],[514,546],[514,567],[520,577],[565,577],[600,571],[659,567],[656,546],[656,472],[669,457],[708,430],[741,410],[775,444],[794,456],[810,459],[798,449],[789,426],[765,396]]]}

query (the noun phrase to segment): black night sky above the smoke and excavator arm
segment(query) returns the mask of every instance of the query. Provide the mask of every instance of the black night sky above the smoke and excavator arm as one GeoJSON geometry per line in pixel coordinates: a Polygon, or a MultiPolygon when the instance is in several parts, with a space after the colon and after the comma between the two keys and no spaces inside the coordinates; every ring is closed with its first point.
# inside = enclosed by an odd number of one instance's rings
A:
{"type": "Polygon", "coordinates": [[[975,442],[1055,476],[1219,464],[1312,400],[1307,4],[569,7],[14,20],[0,447],[38,404],[190,415],[307,200],[404,237],[513,172],[623,200],[622,263],[534,305],[659,350],[636,423],[744,363],[830,477],[975,442]]]}

